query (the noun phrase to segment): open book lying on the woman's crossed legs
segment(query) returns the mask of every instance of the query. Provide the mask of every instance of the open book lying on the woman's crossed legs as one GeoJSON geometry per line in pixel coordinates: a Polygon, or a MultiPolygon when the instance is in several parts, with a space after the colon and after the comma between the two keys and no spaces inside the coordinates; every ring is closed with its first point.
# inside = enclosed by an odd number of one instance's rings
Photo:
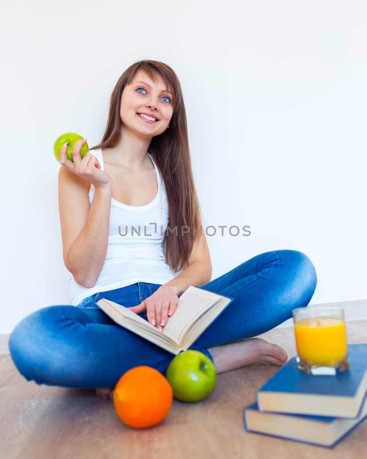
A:
{"type": "Polygon", "coordinates": [[[166,351],[179,354],[206,330],[234,300],[190,285],[179,297],[175,313],[168,316],[163,330],[128,308],[102,298],[96,304],[116,324],[136,333],[166,351]]]}

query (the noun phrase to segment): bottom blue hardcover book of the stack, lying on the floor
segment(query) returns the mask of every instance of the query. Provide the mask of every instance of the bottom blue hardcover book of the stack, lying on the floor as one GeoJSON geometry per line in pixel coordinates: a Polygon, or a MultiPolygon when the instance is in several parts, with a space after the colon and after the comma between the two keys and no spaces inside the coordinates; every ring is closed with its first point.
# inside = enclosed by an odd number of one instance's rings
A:
{"type": "Polygon", "coordinates": [[[257,403],[243,409],[248,432],[282,437],[297,442],[331,448],[346,437],[367,417],[367,397],[356,419],[301,414],[262,413],[257,403]]]}

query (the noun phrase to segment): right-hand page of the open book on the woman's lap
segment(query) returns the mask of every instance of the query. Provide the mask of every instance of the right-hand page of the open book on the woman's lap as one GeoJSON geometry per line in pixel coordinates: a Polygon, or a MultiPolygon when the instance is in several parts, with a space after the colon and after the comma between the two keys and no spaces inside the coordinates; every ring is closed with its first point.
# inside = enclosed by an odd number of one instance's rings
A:
{"type": "Polygon", "coordinates": [[[180,342],[182,334],[190,325],[208,308],[215,304],[218,299],[213,298],[214,293],[207,291],[192,291],[191,286],[178,299],[177,307],[173,316],[168,316],[168,322],[163,327],[163,334],[171,336],[175,341],[180,342]],[[190,290],[191,291],[190,291],[190,290]],[[209,294],[208,294],[209,293],[209,294]]]}

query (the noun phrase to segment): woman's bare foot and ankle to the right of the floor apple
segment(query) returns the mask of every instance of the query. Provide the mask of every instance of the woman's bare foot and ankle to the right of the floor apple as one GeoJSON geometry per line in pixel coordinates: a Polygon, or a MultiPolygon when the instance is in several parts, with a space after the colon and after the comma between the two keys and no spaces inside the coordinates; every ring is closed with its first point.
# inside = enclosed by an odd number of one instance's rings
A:
{"type": "Polygon", "coordinates": [[[262,338],[250,338],[220,346],[209,347],[217,373],[224,373],[245,365],[264,364],[281,367],[288,359],[285,350],[262,338]]]}

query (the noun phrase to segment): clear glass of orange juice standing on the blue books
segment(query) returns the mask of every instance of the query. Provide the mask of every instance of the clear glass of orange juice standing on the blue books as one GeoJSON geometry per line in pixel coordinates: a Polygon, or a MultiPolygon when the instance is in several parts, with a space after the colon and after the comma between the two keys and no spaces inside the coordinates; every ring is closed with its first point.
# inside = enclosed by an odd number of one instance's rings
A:
{"type": "Polygon", "coordinates": [[[335,375],[349,368],[343,308],[293,309],[298,368],[309,375],[335,375]]]}

